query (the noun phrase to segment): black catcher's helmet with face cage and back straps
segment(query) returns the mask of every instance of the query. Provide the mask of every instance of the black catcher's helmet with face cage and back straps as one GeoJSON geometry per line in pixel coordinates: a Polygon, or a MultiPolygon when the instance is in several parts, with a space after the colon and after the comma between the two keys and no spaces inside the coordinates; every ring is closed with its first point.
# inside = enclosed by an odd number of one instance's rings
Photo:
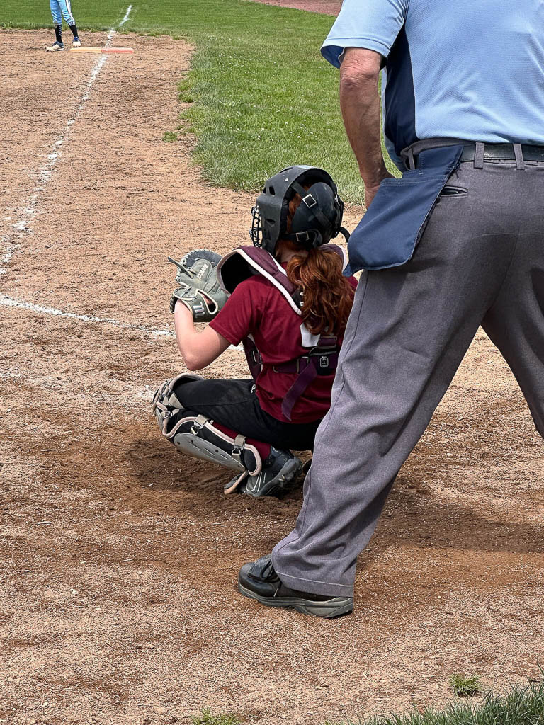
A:
{"type": "Polygon", "coordinates": [[[305,249],[321,247],[339,232],[347,239],[349,233],[341,226],[343,211],[337,185],[326,171],[316,166],[289,166],[269,178],[258,196],[252,208],[251,241],[273,254],[279,239],[289,239],[305,249]],[[295,194],[302,196],[302,202],[288,232],[289,202],[295,194]]]}

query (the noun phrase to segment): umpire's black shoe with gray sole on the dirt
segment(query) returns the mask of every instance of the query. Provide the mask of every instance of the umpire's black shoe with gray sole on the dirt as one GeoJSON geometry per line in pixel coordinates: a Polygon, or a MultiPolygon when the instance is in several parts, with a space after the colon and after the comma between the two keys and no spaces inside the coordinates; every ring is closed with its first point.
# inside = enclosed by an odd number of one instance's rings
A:
{"type": "Polygon", "coordinates": [[[286,587],[274,571],[270,554],[242,566],[238,589],[244,597],[255,599],[267,607],[290,607],[315,617],[331,619],[353,610],[353,597],[329,597],[286,587]]]}

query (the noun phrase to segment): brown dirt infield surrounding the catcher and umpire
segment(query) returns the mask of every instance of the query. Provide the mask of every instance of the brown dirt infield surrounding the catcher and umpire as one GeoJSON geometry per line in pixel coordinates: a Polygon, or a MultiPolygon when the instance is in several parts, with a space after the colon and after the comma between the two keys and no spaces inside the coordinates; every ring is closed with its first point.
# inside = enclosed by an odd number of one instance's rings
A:
{"type": "MultiPolygon", "coordinates": [[[[353,616],[236,593],[301,494],[223,497],[228,474],[176,454],[150,413],[183,370],[165,258],[245,243],[252,202],[200,181],[190,138],[161,140],[191,49],[122,36],[135,54],[96,71],[44,53],[46,31],[3,36],[0,722],[188,724],[208,706],[320,725],[440,705],[457,671],[535,673],[542,442],[483,334],[360,557],[353,616]]],[[[207,373],[246,375],[236,351],[207,373]]]]}

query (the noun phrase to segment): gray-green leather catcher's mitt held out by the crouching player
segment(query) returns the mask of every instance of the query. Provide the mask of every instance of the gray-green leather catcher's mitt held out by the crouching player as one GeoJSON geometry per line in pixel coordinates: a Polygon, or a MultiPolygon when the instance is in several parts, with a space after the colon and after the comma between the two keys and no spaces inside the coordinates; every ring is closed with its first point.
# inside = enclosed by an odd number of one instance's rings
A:
{"type": "Polygon", "coordinates": [[[177,267],[176,284],[170,298],[170,312],[176,300],[183,302],[193,313],[194,322],[210,322],[225,304],[228,295],[219,286],[217,265],[221,255],[210,249],[194,249],[179,262],[168,257],[177,267]]]}

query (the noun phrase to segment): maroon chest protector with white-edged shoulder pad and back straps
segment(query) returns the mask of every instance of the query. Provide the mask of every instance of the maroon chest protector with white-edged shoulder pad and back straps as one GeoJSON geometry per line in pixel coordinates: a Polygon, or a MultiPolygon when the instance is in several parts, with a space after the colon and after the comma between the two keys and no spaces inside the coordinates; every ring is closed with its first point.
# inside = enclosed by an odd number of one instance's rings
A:
{"type": "MultiPolygon", "coordinates": [[[[324,244],[321,249],[333,249],[344,260],[344,252],[337,244],[324,244]]],[[[289,281],[284,268],[265,249],[249,245],[247,247],[238,247],[234,249],[234,252],[230,252],[223,257],[217,269],[221,287],[228,294],[232,294],[236,286],[244,280],[253,275],[261,275],[276,287],[285,298],[286,304],[297,315],[301,314],[302,295],[300,289],[289,281]]],[[[300,326],[300,335],[302,347],[308,348],[308,352],[294,360],[286,360],[285,363],[271,367],[274,373],[297,373],[294,383],[287,391],[281,404],[281,413],[284,414],[288,421],[291,421],[295,403],[304,394],[308,386],[317,376],[334,373],[338,365],[339,346],[336,336],[329,334],[313,335],[303,323],[300,326]]],[[[257,381],[257,377],[264,367],[263,358],[252,336],[242,340],[242,344],[244,345],[252,378],[257,381]]]]}

